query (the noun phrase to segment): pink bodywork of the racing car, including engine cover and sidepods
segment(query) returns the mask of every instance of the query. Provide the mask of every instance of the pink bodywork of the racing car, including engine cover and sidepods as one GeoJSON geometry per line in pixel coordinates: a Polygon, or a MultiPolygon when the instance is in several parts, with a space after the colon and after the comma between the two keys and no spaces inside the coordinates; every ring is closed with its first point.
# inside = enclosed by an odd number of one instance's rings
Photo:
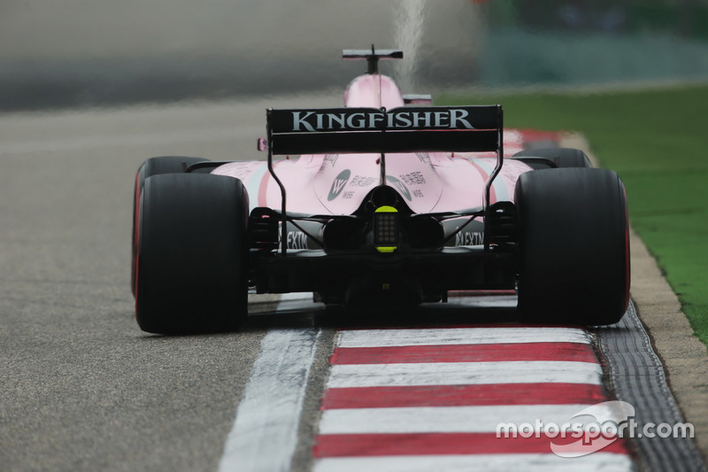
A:
{"type": "MultiPolygon", "coordinates": [[[[359,76],[344,93],[345,106],[386,109],[404,106],[400,89],[381,74],[359,76]]],[[[504,154],[523,149],[525,133],[504,130],[504,154]]],[[[304,155],[274,163],[287,190],[288,211],[351,214],[381,180],[379,154],[304,155]]],[[[387,184],[404,197],[414,213],[452,212],[482,205],[484,186],[496,165],[492,154],[419,152],[386,155],[387,184]]],[[[513,201],[520,174],[531,167],[506,159],[491,190],[491,203],[513,201]]],[[[240,179],[249,192],[250,210],[280,208],[281,191],[264,160],[219,166],[212,174],[240,179]]]]}

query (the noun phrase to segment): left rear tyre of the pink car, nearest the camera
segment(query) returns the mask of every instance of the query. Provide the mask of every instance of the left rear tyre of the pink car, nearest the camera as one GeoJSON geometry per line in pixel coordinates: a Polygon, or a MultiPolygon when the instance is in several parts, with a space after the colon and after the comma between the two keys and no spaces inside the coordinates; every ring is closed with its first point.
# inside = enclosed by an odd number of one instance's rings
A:
{"type": "Polygon", "coordinates": [[[246,225],[241,181],[161,174],[142,191],[135,317],[150,333],[237,329],[248,314],[246,225]]]}

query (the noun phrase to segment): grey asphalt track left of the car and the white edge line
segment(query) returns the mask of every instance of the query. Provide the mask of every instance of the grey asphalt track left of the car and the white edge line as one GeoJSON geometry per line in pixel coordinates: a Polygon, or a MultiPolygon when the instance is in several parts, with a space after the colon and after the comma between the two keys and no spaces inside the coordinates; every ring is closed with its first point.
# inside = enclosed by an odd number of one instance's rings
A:
{"type": "Polygon", "coordinates": [[[218,467],[266,330],[138,329],[132,182],[150,156],[253,159],[265,107],[0,116],[0,469],[218,467]]]}

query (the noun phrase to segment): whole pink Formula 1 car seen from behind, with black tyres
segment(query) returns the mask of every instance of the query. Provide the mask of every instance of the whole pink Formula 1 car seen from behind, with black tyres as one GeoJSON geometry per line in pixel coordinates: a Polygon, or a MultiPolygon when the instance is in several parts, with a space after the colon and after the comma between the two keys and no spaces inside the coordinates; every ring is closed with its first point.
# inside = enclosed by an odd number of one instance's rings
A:
{"type": "Polygon", "coordinates": [[[528,321],[627,308],[627,203],[581,151],[519,150],[500,105],[408,103],[366,59],[344,107],[268,110],[267,160],[148,159],[135,178],[133,290],[154,333],[237,329],[247,294],[420,304],[517,290],[528,321]],[[285,157],[278,159],[276,157],[285,157]]]}

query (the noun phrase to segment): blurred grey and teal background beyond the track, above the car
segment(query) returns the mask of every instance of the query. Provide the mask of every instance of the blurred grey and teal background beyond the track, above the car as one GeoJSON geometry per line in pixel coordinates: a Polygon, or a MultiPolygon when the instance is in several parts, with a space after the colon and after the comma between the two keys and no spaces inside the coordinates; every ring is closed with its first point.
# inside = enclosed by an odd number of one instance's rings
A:
{"type": "Polygon", "coordinates": [[[0,0],[0,112],[337,88],[403,49],[406,93],[708,79],[704,0],[0,0]]]}

